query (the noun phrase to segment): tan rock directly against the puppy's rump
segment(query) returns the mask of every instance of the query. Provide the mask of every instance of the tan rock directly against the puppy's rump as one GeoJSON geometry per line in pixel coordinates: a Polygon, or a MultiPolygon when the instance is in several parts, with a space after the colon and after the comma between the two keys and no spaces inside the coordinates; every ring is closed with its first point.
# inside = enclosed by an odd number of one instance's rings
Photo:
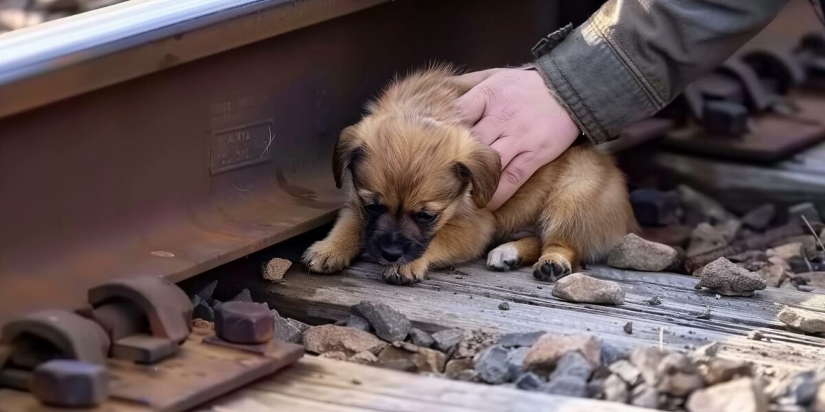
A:
{"type": "Polygon", "coordinates": [[[679,253],[671,246],[645,241],[629,233],[613,246],[607,255],[607,265],[619,269],[659,272],[676,262],[679,253]]]}

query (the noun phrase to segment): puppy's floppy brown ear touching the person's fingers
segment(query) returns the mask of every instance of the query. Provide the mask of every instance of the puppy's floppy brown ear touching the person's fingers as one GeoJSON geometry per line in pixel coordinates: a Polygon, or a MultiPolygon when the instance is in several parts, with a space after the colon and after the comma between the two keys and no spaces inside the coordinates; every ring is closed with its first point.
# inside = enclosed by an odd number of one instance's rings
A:
{"type": "Polygon", "coordinates": [[[487,206],[502,176],[502,158],[492,147],[479,146],[469,158],[457,164],[459,176],[473,185],[473,201],[479,208],[487,206]]]}

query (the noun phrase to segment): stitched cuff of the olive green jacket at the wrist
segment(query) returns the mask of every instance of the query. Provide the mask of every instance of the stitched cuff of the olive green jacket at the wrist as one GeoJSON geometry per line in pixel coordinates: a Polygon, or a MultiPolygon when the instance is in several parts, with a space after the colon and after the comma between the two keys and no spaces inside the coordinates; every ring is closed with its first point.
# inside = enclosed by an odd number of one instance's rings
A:
{"type": "MultiPolygon", "coordinates": [[[[564,30],[559,32],[566,35],[564,30]]],[[[593,21],[560,41],[559,32],[536,44],[535,67],[592,143],[615,139],[625,126],[661,108],[593,21]]]]}

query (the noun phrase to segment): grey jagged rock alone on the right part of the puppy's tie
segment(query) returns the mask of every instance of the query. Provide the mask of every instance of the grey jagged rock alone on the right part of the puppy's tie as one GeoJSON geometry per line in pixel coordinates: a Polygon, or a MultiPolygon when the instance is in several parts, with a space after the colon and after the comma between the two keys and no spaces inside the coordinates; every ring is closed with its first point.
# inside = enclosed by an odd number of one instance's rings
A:
{"type": "Polygon", "coordinates": [[[765,287],[765,281],[757,274],[734,265],[724,257],[705,265],[697,284],[697,288],[709,288],[720,295],[746,297],[765,287]]]}

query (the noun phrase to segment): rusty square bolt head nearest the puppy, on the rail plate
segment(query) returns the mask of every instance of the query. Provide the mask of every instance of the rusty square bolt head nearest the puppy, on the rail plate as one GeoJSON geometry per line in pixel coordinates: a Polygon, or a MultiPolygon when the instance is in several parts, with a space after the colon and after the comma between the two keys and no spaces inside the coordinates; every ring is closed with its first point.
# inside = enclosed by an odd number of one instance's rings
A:
{"type": "Polygon", "coordinates": [[[233,344],[264,344],[275,334],[266,303],[224,302],[214,311],[214,332],[233,344]]]}

